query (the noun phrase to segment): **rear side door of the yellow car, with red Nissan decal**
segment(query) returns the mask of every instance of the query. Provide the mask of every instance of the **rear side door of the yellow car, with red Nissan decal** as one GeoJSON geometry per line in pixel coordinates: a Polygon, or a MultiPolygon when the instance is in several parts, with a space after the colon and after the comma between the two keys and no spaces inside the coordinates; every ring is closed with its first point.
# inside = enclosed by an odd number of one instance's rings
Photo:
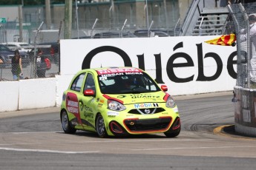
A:
{"type": "Polygon", "coordinates": [[[80,117],[81,106],[79,100],[83,98],[82,87],[85,82],[85,72],[77,75],[73,83],[70,86],[70,90],[67,92],[66,106],[70,123],[76,126],[76,128],[82,128],[82,120],[80,117]]]}

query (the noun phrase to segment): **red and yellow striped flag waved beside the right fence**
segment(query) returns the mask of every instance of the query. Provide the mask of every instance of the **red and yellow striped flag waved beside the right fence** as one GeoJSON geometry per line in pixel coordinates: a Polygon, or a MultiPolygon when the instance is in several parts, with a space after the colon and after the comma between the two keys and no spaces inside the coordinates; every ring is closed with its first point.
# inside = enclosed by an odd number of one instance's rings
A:
{"type": "Polygon", "coordinates": [[[235,34],[229,35],[222,35],[218,38],[211,39],[209,41],[205,41],[208,44],[215,44],[215,45],[223,45],[223,46],[235,46],[236,41],[235,34]]]}

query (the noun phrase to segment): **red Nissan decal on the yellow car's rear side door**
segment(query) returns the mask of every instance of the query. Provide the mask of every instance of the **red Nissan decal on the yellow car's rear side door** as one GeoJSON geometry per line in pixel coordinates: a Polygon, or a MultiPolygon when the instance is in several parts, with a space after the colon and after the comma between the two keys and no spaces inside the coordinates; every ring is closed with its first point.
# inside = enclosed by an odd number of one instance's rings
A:
{"type": "Polygon", "coordinates": [[[68,112],[72,113],[76,116],[77,122],[79,124],[82,123],[79,113],[79,102],[76,94],[72,92],[68,92],[67,94],[67,100],[66,100],[66,106],[68,109],[68,112]]]}

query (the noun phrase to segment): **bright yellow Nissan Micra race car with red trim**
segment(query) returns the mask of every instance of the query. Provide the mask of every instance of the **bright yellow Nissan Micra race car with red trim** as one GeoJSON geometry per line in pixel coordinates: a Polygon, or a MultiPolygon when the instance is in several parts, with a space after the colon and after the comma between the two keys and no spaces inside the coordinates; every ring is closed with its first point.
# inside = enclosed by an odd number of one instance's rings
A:
{"type": "Polygon", "coordinates": [[[60,119],[65,133],[96,132],[99,137],[180,134],[180,115],[167,86],[142,69],[83,69],[63,93],[60,119]]]}

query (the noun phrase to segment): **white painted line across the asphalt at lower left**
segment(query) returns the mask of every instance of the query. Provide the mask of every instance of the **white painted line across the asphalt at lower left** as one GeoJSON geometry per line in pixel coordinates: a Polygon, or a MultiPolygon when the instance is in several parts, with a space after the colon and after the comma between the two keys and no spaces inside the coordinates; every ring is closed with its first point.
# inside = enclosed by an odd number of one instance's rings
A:
{"type": "Polygon", "coordinates": [[[66,152],[66,151],[56,151],[56,150],[47,150],[47,149],[15,149],[15,148],[1,148],[0,150],[5,151],[19,151],[19,152],[47,152],[47,153],[56,153],[56,154],[87,154],[87,153],[98,153],[99,151],[91,152],[66,152]]]}

